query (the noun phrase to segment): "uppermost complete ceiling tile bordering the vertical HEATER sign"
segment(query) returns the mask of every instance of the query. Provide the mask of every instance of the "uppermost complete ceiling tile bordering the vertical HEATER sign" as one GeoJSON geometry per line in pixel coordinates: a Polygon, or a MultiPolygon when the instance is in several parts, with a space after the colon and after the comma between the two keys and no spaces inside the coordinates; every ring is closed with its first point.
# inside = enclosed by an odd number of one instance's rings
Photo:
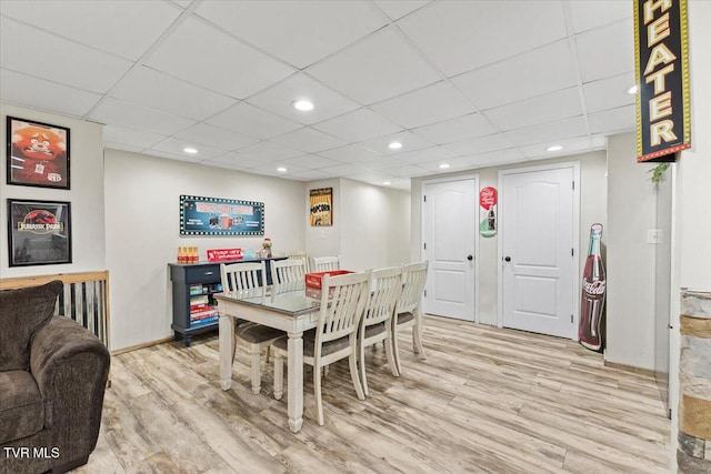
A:
{"type": "Polygon", "coordinates": [[[575,36],[582,82],[634,71],[632,19],[575,36]]]}

